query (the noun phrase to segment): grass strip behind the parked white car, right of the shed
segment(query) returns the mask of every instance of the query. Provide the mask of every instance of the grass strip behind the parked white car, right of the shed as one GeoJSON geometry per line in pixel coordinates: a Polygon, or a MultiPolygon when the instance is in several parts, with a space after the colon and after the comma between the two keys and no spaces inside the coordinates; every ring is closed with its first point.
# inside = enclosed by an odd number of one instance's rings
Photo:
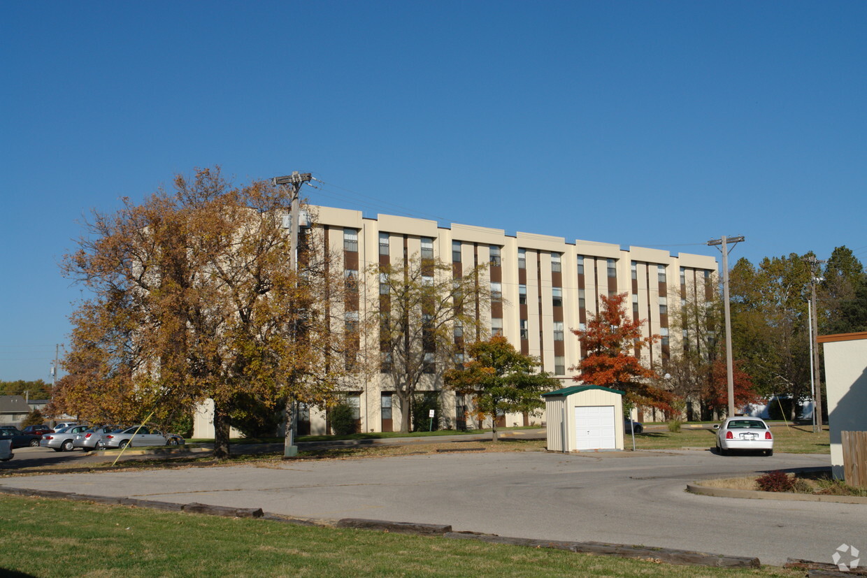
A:
{"type": "MultiPolygon", "coordinates": [[[[786,453],[830,453],[831,442],[828,430],[813,433],[809,425],[772,427],[773,450],[786,453]]],[[[629,434],[624,439],[632,446],[629,434]]],[[[680,432],[643,432],[636,435],[636,449],[676,450],[683,447],[715,447],[716,431],[711,429],[687,429],[680,432]]]]}

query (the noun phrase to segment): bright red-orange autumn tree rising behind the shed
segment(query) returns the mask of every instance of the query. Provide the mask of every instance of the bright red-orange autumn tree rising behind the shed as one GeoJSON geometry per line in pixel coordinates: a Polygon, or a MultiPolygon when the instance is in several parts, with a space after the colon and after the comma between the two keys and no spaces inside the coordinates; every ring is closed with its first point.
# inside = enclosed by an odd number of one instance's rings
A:
{"type": "Polygon", "coordinates": [[[671,411],[671,395],[654,380],[657,373],[640,359],[644,347],[659,341],[659,335],[642,336],[646,320],[635,320],[626,309],[627,293],[599,295],[600,308],[590,315],[585,329],[573,329],[586,356],[578,363],[573,379],[594,386],[626,392],[626,401],[636,406],[654,406],[671,411]]]}

